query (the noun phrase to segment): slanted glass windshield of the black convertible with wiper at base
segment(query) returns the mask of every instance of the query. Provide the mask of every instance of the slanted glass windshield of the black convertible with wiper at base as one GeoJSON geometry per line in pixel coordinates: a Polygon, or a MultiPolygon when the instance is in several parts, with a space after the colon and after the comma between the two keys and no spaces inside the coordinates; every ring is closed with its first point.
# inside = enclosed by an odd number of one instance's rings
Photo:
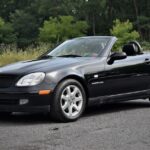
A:
{"type": "Polygon", "coordinates": [[[109,38],[77,38],[56,47],[47,56],[53,57],[97,57],[106,47],[109,38]]]}

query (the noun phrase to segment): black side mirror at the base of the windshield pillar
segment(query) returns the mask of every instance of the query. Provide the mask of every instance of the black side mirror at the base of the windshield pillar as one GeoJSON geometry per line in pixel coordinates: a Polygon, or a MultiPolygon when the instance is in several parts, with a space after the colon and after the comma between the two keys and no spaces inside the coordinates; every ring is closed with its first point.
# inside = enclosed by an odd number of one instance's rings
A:
{"type": "Polygon", "coordinates": [[[110,56],[110,58],[108,60],[108,64],[113,64],[115,60],[125,59],[126,57],[127,57],[126,53],[115,52],[110,56]]]}

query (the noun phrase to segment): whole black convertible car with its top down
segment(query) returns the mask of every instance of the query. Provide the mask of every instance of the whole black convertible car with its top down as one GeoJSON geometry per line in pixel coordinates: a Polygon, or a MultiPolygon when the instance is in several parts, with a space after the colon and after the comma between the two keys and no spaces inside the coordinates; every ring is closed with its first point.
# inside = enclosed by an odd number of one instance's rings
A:
{"type": "Polygon", "coordinates": [[[150,54],[138,42],[113,51],[111,36],[67,40],[39,57],[0,68],[0,111],[50,111],[78,119],[89,104],[150,97],[150,54]]]}

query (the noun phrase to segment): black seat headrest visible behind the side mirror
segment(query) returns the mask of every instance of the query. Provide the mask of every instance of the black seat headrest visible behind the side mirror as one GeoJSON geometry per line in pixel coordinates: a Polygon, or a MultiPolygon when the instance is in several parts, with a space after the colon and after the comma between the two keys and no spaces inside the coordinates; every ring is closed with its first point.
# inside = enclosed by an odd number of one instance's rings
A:
{"type": "Polygon", "coordinates": [[[122,51],[125,52],[127,56],[134,56],[137,54],[137,49],[134,44],[124,45],[122,51]]]}

